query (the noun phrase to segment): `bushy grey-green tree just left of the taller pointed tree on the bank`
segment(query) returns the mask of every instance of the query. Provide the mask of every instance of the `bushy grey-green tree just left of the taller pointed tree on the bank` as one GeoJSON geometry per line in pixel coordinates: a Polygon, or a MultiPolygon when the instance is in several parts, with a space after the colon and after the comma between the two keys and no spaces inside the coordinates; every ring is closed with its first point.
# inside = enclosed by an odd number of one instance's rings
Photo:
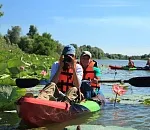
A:
{"type": "Polygon", "coordinates": [[[21,28],[19,26],[12,26],[8,29],[6,37],[9,38],[11,44],[18,44],[20,41],[21,28]]]}

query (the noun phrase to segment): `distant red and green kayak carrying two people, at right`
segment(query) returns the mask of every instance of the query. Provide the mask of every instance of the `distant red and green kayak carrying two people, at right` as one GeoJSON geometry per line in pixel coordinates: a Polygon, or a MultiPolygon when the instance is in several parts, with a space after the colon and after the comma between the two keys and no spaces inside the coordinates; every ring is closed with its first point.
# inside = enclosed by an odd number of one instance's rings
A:
{"type": "Polygon", "coordinates": [[[129,68],[128,66],[116,66],[116,65],[109,65],[110,69],[115,70],[150,70],[150,67],[133,67],[129,68]]]}

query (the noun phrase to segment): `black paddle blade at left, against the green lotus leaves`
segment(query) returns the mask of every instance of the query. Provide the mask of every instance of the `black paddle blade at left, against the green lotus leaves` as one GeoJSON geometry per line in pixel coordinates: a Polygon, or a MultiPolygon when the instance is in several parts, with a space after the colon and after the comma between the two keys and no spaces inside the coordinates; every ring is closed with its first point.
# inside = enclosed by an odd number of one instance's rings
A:
{"type": "Polygon", "coordinates": [[[38,85],[40,81],[38,79],[16,79],[16,85],[19,88],[31,88],[38,85]]]}

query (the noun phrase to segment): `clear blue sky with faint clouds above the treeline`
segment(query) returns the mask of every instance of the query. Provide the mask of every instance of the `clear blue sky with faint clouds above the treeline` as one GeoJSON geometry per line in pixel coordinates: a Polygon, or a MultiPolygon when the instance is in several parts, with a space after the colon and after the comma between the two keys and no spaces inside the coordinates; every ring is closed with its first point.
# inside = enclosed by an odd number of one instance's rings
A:
{"type": "Polygon", "coordinates": [[[105,53],[150,53],[150,0],[1,0],[0,33],[35,25],[63,45],[75,43],[105,53]]]}

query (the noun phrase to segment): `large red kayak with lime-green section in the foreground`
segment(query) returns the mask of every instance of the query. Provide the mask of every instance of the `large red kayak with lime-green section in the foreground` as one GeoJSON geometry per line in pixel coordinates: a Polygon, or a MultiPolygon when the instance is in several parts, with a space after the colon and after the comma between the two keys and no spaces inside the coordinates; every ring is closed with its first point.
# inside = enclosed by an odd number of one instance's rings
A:
{"type": "Polygon", "coordinates": [[[92,100],[70,105],[67,102],[21,97],[16,102],[16,109],[26,125],[41,127],[50,123],[65,122],[84,113],[99,111],[101,105],[92,100]]]}

